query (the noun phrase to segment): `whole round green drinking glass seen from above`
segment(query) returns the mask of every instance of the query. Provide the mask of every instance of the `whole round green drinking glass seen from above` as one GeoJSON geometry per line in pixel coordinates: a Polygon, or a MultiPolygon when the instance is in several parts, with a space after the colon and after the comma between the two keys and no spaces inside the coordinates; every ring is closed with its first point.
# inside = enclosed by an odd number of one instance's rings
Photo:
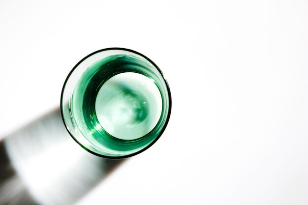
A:
{"type": "Polygon", "coordinates": [[[123,48],[96,51],[69,73],[61,113],[73,139],[105,158],[152,146],[167,126],[171,93],[154,62],[123,48]]]}

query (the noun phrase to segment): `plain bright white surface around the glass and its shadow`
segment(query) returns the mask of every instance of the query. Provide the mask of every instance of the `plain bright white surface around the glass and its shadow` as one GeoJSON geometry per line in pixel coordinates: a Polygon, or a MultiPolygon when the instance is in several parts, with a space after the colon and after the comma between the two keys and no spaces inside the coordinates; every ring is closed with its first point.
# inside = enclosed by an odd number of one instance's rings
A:
{"type": "Polygon", "coordinates": [[[98,49],[136,50],[170,84],[161,139],[79,205],[308,204],[307,0],[4,0],[0,30],[1,138],[98,49]]]}

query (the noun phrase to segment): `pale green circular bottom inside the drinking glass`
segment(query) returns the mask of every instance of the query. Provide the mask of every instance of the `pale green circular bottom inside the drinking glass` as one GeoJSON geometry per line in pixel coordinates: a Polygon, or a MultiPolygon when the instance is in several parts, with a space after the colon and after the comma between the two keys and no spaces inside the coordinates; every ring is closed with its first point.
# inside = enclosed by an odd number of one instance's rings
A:
{"type": "Polygon", "coordinates": [[[162,109],[159,89],[151,78],[132,72],[110,78],[95,103],[100,125],[112,136],[135,140],[157,124],[162,109]]]}

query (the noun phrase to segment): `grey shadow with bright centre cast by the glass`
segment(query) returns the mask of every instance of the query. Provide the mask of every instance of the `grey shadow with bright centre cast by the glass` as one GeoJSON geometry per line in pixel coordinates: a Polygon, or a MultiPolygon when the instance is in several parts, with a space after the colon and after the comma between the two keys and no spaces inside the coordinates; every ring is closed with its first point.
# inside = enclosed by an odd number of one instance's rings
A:
{"type": "Polygon", "coordinates": [[[58,108],[0,142],[0,205],[72,205],[123,161],[82,149],[58,108]]]}

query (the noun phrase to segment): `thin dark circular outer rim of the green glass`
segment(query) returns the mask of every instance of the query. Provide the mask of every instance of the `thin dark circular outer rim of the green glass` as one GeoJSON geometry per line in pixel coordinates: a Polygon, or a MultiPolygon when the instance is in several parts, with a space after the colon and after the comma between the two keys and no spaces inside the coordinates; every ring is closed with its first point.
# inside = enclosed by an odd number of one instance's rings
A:
{"type": "Polygon", "coordinates": [[[65,126],[65,129],[67,130],[67,132],[69,133],[69,135],[73,138],[73,140],[81,147],[83,147],[86,151],[96,155],[96,156],[99,156],[99,157],[103,157],[103,158],[107,158],[107,159],[124,159],[124,158],[128,158],[128,157],[131,157],[131,156],[134,156],[134,155],[137,155],[143,151],[145,151],[146,149],[150,148],[151,146],[154,145],[154,143],[160,138],[160,136],[162,135],[162,133],[165,131],[166,127],[167,127],[167,124],[169,122],[169,118],[170,118],[170,115],[171,115],[171,107],[172,107],[172,100],[171,100],[171,91],[170,91],[170,88],[169,88],[169,84],[164,76],[164,74],[162,73],[162,71],[160,70],[160,68],[151,60],[149,59],[148,57],[146,57],[145,55],[139,53],[139,52],[136,52],[136,51],[133,51],[131,49],[126,49],[126,48],[120,48],[120,47],[111,47],[111,48],[105,48],[105,49],[100,49],[100,50],[97,50],[97,51],[94,51],[92,52],[91,54],[87,55],[86,57],[84,57],[83,59],[81,59],[74,67],[73,69],[69,72],[69,74],[67,75],[65,81],[64,81],[64,84],[63,84],[63,87],[62,87],[62,91],[61,91],[61,101],[60,101],[60,110],[61,110],[61,117],[62,117],[62,121],[64,123],[64,126],[65,126]],[[74,72],[74,70],[79,66],[80,63],[82,63],[85,59],[88,59],[89,57],[91,57],[92,55],[94,54],[97,54],[97,53],[100,53],[100,52],[104,52],[104,51],[109,51],[109,50],[121,50],[121,51],[128,51],[128,52],[131,52],[131,53],[134,53],[134,54],[137,54],[145,59],[147,59],[151,64],[154,65],[154,67],[158,70],[159,74],[161,75],[164,83],[166,84],[166,88],[167,88],[167,92],[168,92],[168,100],[169,100],[169,106],[168,106],[168,113],[167,113],[167,117],[166,117],[166,121],[161,129],[161,131],[159,132],[159,134],[157,135],[157,137],[155,137],[155,139],[147,146],[145,146],[144,148],[140,149],[139,151],[136,151],[134,153],[131,153],[131,154],[127,154],[127,155],[123,155],[123,156],[108,156],[108,155],[104,155],[104,154],[99,154],[99,153],[96,153],[92,150],[90,150],[88,147],[84,146],[83,144],[81,144],[75,137],[74,135],[69,131],[69,129],[67,128],[66,126],[66,123],[65,123],[65,120],[64,120],[64,116],[63,116],[63,93],[64,93],[64,89],[66,87],[66,83],[67,81],[69,80],[71,74],[74,72]]]}

